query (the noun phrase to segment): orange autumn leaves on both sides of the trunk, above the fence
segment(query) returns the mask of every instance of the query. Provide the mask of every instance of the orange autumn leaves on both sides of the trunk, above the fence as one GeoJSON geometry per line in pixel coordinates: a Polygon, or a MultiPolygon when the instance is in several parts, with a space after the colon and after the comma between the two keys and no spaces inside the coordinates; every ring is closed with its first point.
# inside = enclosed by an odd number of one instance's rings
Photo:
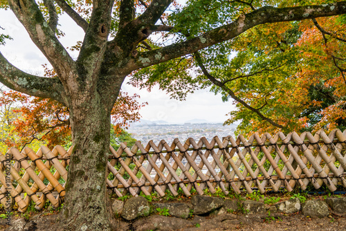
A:
{"type": "MultiPolygon", "coordinates": [[[[44,65],[46,77],[55,76],[55,72],[44,65]]],[[[69,109],[52,99],[31,97],[17,91],[2,91],[0,107],[6,109],[2,117],[3,133],[1,145],[24,147],[40,140],[48,147],[65,145],[71,142],[69,109]],[[7,106],[7,107],[6,107],[7,106]],[[10,107],[9,107],[10,106],[10,107]],[[6,129],[5,129],[6,128],[6,129]]],[[[140,104],[139,95],[129,95],[120,91],[116,104],[111,111],[114,132],[122,133],[131,122],[140,119],[139,110],[147,103],[140,104]]],[[[4,151],[4,150],[3,150],[4,151]]]]}

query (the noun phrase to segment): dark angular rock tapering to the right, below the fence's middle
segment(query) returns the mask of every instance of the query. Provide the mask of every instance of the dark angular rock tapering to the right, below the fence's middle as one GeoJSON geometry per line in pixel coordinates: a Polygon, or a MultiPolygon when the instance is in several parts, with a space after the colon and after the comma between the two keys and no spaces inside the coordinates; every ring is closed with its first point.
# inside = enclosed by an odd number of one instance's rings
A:
{"type": "Polygon", "coordinates": [[[224,205],[224,200],[219,197],[211,196],[192,196],[192,205],[194,205],[193,214],[206,214],[217,210],[219,207],[224,205]]]}

